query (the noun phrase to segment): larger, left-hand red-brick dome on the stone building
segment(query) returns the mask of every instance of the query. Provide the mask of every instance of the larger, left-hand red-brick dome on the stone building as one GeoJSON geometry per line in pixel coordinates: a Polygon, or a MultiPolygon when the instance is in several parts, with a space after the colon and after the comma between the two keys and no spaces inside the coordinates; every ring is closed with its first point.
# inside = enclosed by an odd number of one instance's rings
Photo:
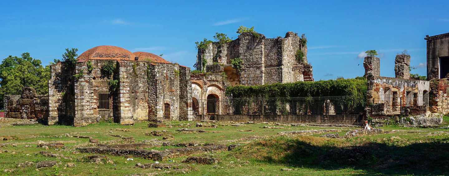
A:
{"type": "Polygon", "coordinates": [[[136,56],[130,51],[116,47],[102,45],[88,49],[84,53],[80,54],[76,59],[88,60],[88,59],[120,59],[134,61],[136,56]]]}

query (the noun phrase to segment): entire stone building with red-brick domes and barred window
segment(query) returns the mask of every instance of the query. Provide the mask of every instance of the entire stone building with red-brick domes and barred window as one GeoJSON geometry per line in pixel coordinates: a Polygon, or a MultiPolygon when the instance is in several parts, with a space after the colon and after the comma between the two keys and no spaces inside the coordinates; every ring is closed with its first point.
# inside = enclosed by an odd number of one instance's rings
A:
{"type": "Polygon", "coordinates": [[[74,68],[51,66],[48,124],[193,119],[188,67],[115,46],[91,48],[77,60],[74,68]],[[101,70],[108,63],[111,75],[101,70]]]}

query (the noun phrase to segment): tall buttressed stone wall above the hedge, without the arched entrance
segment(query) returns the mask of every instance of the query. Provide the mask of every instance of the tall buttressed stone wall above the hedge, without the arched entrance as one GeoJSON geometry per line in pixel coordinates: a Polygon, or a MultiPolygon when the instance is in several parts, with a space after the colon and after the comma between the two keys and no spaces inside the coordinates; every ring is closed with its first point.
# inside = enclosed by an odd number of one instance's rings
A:
{"type": "Polygon", "coordinates": [[[228,77],[232,77],[229,81],[233,86],[313,81],[312,66],[307,63],[307,46],[300,44],[298,35],[287,32],[283,39],[267,39],[259,35],[259,38],[255,38],[251,32],[246,32],[229,43],[209,44],[204,53],[198,51],[197,70],[214,73],[218,69],[225,71],[228,77]],[[303,62],[295,59],[298,49],[304,53],[303,62]],[[242,59],[242,68],[232,73],[232,69],[226,70],[226,64],[231,64],[231,60],[236,57],[242,59]],[[207,60],[205,68],[202,59],[207,60]],[[218,65],[224,65],[225,70],[218,65]],[[238,79],[234,75],[238,75],[238,79]]]}

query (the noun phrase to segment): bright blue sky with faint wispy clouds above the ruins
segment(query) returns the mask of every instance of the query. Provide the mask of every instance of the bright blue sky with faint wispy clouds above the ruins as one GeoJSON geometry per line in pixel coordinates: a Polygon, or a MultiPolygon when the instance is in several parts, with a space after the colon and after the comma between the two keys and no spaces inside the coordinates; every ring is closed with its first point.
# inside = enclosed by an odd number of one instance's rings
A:
{"type": "Polygon", "coordinates": [[[375,49],[381,76],[407,49],[412,73],[426,75],[425,35],[449,32],[449,1],[2,1],[0,59],[29,52],[44,65],[64,48],[99,45],[163,54],[192,67],[195,41],[238,26],[268,38],[305,33],[315,80],[362,76],[361,52],[375,49]],[[360,64],[360,65],[358,65],[360,64]]]}

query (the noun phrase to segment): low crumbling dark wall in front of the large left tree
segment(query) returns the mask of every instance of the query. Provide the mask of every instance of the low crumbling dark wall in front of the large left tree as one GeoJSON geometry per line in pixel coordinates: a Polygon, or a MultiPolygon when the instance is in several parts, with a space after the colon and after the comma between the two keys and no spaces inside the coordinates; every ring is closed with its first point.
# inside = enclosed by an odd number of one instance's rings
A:
{"type": "Polygon", "coordinates": [[[21,95],[4,96],[4,116],[14,119],[48,118],[48,96],[38,95],[34,88],[22,88],[21,95]]]}

